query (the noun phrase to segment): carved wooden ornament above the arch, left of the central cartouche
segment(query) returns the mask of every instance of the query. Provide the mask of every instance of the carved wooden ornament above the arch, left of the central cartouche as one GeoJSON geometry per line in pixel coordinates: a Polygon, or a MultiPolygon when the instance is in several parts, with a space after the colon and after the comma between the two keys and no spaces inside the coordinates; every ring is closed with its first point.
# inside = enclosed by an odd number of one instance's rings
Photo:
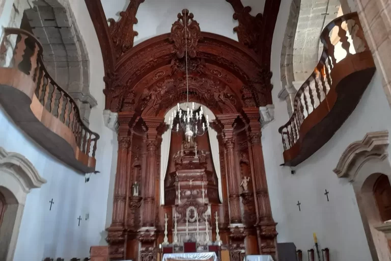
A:
{"type": "Polygon", "coordinates": [[[109,18],[109,32],[114,43],[116,58],[125,54],[133,47],[134,37],[138,35],[133,31],[133,25],[138,22],[136,13],[138,7],[145,0],[132,0],[129,3],[126,11],[120,12],[120,20],[116,22],[113,18],[109,18]]]}

